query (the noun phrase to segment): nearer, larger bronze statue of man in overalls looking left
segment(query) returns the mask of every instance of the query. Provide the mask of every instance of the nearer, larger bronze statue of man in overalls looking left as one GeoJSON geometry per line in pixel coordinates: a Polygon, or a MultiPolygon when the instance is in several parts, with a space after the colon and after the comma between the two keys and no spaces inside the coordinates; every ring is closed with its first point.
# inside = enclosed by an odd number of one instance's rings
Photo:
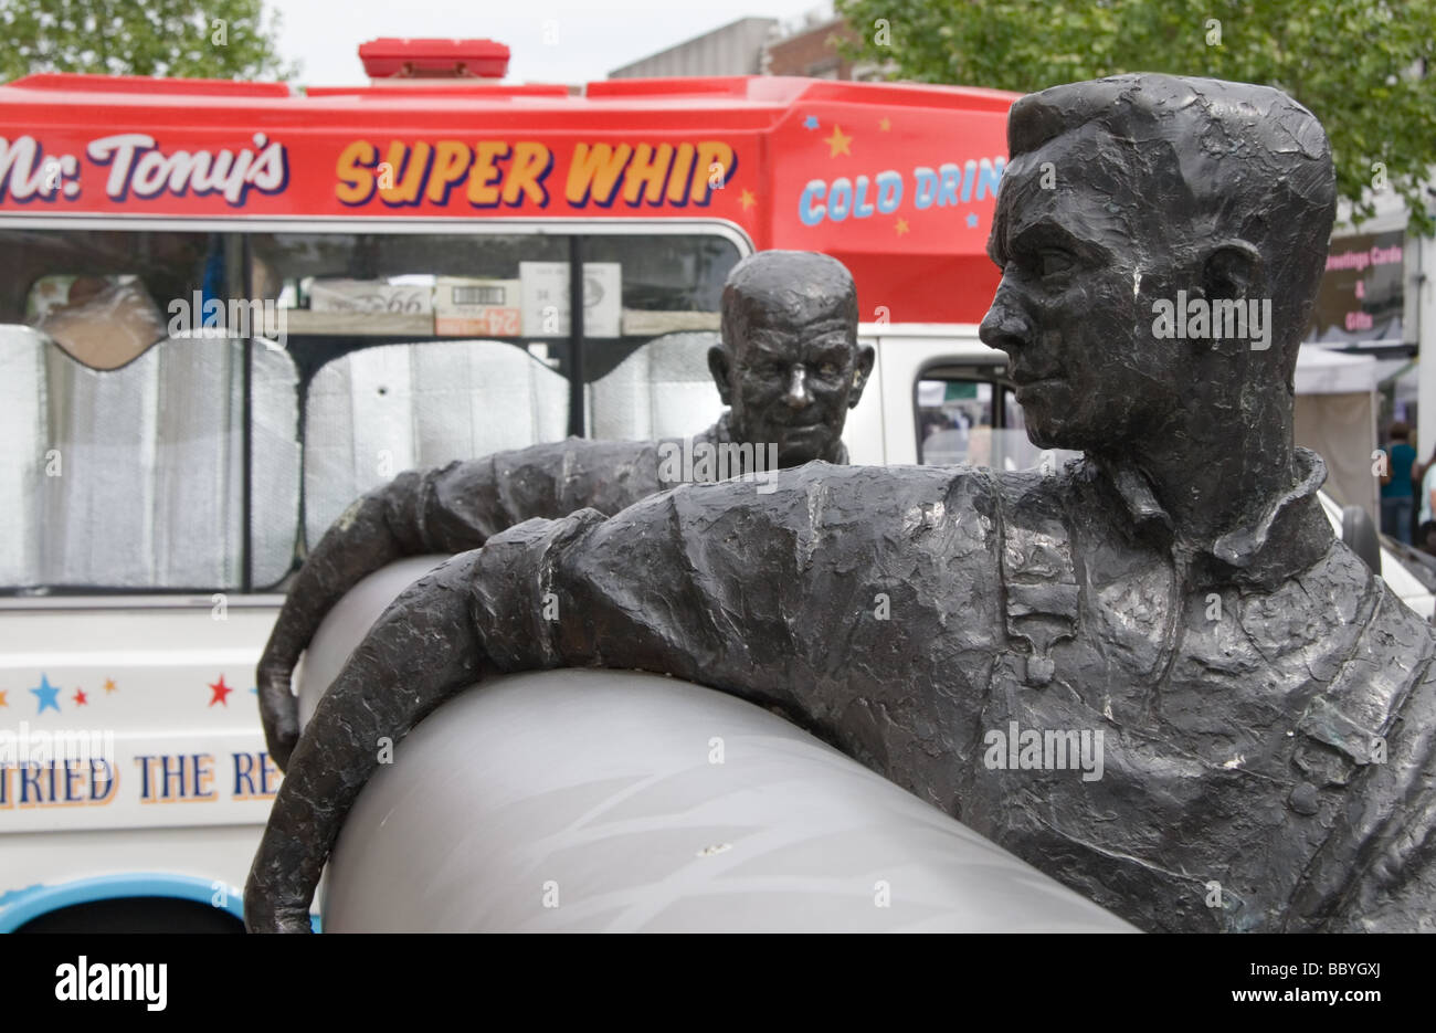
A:
{"type": "Polygon", "coordinates": [[[770,496],[682,487],[455,557],[300,740],[250,928],[309,928],[379,737],[564,665],[780,707],[1144,930],[1436,924],[1436,635],[1334,540],[1292,445],[1335,207],[1321,125],[1265,86],[1124,75],[1021,99],[1008,149],[982,338],[1032,440],[1083,458],[814,463],[770,496]],[[1269,312],[1267,342],[1228,332],[1238,306],[1269,312]]]}

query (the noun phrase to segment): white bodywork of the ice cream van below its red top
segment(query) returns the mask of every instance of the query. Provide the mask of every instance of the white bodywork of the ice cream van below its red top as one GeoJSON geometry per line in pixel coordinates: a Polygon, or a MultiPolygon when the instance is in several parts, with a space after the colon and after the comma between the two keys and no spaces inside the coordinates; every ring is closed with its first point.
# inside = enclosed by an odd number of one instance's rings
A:
{"type": "MultiPolygon", "coordinates": [[[[919,461],[918,384],[931,371],[997,378],[1005,365],[975,326],[867,323],[862,338],[877,361],[847,421],[854,464],[919,461]]],[[[712,392],[707,412],[717,411],[712,392]]],[[[1021,431],[1005,434],[1022,438],[1005,464],[1025,448],[1020,464],[1034,465],[1021,431]]],[[[1325,504],[1340,534],[1340,510],[1325,504]]],[[[1432,595],[1390,553],[1383,572],[1430,618],[1432,595]]],[[[111,783],[90,777],[93,760],[0,770],[0,931],[115,899],[185,901],[238,922],[238,886],[280,780],[260,731],[254,667],[281,602],[274,593],[0,598],[4,727],[19,734],[52,698],[67,703],[67,731],[98,731],[101,741],[108,733],[113,749],[111,783]]]]}

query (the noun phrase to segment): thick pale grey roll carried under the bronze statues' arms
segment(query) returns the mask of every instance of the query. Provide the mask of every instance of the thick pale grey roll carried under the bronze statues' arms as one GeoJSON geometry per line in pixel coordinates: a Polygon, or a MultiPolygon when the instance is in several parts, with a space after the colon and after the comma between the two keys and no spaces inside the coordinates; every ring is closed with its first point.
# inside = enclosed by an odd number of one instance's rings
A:
{"type": "MultiPolygon", "coordinates": [[[[389,601],[330,612],[302,715],[389,601]]],[[[451,700],[360,793],[326,932],[1132,931],[783,718],[632,671],[497,678],[451,700]]]]}

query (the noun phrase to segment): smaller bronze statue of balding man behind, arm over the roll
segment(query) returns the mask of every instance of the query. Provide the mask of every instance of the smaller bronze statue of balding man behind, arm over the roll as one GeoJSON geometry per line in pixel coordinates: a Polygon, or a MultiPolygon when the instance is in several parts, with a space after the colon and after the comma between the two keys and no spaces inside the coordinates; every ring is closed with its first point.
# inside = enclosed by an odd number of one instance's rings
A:
{"type": "Polygon", "coordinates": [[[299,655],[335,603],[382,566],[477,549],[533,517],[613,514],[689,474],[742,473],[771,484],[777,468],[847,463],[843,422],[862,398],[873,349],[857,343],[857,290],[843,263],[811,251],[744,259],[724,284],[721,328],[708,368],[729,408],[691,443],[569,438],[411,470],[349,507],[300,568],[260,657],[260,717],[280,770],[299,740],[290,687],[299,655]]]}

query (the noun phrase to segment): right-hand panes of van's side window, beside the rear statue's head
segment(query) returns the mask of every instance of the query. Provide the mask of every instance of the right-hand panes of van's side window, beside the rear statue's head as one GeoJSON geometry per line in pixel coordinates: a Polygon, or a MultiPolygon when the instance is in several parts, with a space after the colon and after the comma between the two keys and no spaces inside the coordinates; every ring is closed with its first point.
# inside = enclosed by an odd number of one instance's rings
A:
{"type": "Polygon", "coordinates": [[[310,543],[402,470],[574,430],[691,434],[719,411],[707,353],[741,257],[719,237],[283,233],[250,256],[300,371],[310,543]]]}

